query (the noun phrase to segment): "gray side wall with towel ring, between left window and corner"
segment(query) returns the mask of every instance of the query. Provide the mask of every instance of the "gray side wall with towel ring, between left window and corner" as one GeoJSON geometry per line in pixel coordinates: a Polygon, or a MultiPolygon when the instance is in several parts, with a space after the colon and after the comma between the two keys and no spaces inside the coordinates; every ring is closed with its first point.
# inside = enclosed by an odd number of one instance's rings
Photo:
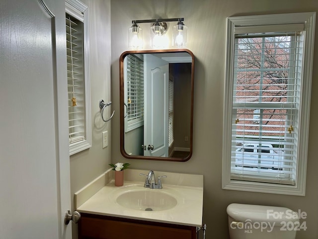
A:
{"type": "MultiPolygon", "coordinates": [[[[102,132],[108,130],[111,139],[111,122],[103,122],[99,100],[112,101],[110,81],[110,0],[81,0],[89,13],[89,76],[91,99],[91,148],[70,157],[72,208],[73,195],[87,183],[105,172],[110,163],[112,140],[102,149],[102,132]]],[[[111,115],[111,107],[104,112],[104,119],[111,115]]],[[[116,110],[115,114],[118,114],[116,110]]],[[[77,238],[77,225],[73,224],[73,238],[77,238]]]]}

